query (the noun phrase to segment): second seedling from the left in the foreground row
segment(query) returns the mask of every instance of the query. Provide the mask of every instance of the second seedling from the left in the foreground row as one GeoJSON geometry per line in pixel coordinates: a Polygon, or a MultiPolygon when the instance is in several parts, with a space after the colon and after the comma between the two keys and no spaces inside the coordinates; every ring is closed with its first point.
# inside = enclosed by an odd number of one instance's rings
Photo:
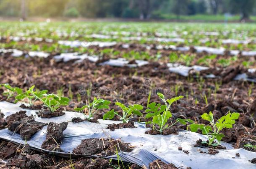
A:
{"type": "Polygon", "coordinates": [[[67,106],[69,103],[69,98],[59,97],[55,94],[46,94],[46,91],[35,92],[34,87],[35,86],[31,86],[29,88],[29,94],[31,94],[34,98],[42,101],[44,106],[49,108],[52,113],[60,108],[60,106],[67,106]]]}

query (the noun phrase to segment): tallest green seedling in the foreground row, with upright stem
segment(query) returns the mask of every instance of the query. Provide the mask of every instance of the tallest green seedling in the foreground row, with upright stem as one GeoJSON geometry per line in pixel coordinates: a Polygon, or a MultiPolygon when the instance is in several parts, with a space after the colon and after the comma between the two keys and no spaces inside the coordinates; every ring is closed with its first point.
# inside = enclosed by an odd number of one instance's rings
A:
{"type": "Polygon", "coordinates": [[[147,124],[153,124],[153,126],[157,125],[159,129],[154,127],[157,131],[162,133],[164,129],[167,129],[169,127],[172,127],[176,123],[180,122],[181,124],[186,124],[187,122],[193,123],[190,119],[176,119],[176,122],[170,126],[168,126],[167,121],[172,117],[172,113],[170,111],[170,106],[175,101],[178,101],[179,99],[183,98],[183,96],[178,96],[175,98],[165,99],[165,96],[162,93],[157,93],[159,98],[165,103],[164,105],[160,103],[152,102],[148,105],[148,108],[146,109],[146,119],[152,118],[152,121],[147,122],[147,124]]]}

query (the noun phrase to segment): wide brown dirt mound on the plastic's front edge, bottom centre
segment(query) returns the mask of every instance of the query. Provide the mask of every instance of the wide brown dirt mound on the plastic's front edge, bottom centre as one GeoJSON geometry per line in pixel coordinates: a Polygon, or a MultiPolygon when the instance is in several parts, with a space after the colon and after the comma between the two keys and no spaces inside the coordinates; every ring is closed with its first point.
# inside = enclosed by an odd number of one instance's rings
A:
{"type": "Polygon", "coordinates": [[[100,155],[110,156],[118,151],[131,152],[133,148],[128,143],[123,143],[120,140],[113,139],[84,139],[76,149],[73,149],[74,154],[85,154],[85,155],[100,155]]]}

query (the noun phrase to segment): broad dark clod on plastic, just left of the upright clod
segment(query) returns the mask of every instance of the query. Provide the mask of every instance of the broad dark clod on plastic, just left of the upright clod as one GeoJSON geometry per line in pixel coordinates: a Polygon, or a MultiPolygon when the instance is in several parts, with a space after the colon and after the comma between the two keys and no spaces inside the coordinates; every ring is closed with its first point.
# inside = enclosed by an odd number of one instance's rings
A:
{"type": "Polygon", "coordinates": [[[47,124],[35,121],[34,117],[31,115],[20,121],[10,121],[8,129],[21,134],[22,139],[29,140],[33,134],[41,130],[45,125],[47,124]]]}

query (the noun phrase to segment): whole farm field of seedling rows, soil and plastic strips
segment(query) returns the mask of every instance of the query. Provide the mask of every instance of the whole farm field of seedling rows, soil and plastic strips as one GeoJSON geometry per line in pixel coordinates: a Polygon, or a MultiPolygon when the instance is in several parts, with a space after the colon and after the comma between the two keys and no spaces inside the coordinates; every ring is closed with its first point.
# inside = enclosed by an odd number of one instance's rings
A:
{"type": "Polygon", "coordinates": [[[256,27],[0,23],[0,169],[256,167],[256,27]]]}

